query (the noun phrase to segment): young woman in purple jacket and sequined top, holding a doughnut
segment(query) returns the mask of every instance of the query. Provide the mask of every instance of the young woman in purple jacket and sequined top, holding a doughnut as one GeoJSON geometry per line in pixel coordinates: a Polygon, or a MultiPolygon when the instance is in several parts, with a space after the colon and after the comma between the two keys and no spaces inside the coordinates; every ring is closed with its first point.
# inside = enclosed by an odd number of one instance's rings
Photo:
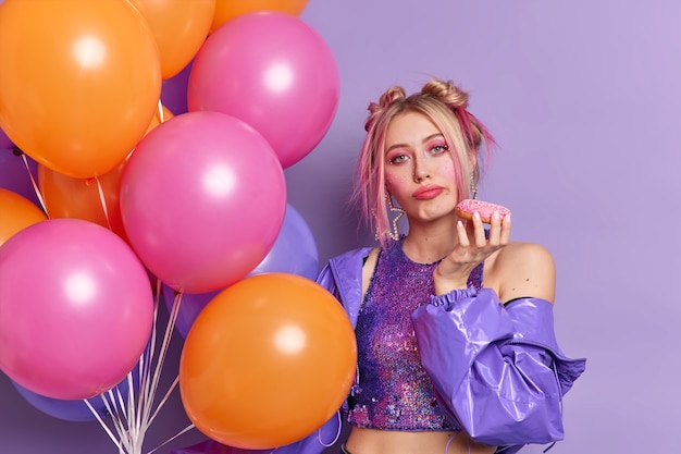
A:
{"type": "Polygon", "coordinates": [[[346,453],[513,453],[562,439],[562,395],[585,360],[556,343],[550,254],[510,241],[510,214],[485,226],[455,210],[492,145],[467,107],[438,79],[369,106],[356,198],[380,246],[333,258],[318,279],[356,327],[346,453]]]}

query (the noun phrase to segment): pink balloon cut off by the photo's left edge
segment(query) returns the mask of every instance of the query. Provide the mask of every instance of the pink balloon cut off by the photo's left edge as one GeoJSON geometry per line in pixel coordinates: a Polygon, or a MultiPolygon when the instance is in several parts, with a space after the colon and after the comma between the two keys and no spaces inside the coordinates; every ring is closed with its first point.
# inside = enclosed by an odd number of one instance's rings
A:
{"type": "Polygon", "coordinates": [[[110,230],[29,225],[0,247],[0,369],[53,398],[89,398],[138,361],[153,322],[149,278],[110,230]]]}

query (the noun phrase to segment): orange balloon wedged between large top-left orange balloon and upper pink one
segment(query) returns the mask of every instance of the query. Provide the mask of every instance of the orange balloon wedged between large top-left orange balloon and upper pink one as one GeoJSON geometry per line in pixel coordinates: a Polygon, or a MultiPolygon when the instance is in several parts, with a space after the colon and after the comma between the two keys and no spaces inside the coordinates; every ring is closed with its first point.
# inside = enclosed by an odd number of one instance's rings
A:
{"type": "Polygon", "coordinates": [[[161,53],[164,79],[182,71],[206,40],[215,0],[129,0],[147,20],[161,53]]]}

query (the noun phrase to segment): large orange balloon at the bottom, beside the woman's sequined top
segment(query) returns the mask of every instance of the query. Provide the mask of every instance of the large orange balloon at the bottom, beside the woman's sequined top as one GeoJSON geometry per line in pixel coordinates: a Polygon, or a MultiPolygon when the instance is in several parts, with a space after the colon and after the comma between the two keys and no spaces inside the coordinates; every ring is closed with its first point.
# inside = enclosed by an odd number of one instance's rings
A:
{"type": "Polygon", "coordinates": [[[299,440],[347,397],[352,326],[324,287],[287,273],[246,278],[211,299],[179,361],[185,410],[206,435],[242,449],[299,440]]]}

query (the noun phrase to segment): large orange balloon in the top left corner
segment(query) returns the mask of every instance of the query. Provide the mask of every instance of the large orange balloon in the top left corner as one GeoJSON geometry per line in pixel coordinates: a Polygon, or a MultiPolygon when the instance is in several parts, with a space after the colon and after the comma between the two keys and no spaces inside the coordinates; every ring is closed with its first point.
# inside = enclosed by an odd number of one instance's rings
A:
{"type": "Polygon", "coordinates": [[[103,175],[145,134],[161,94],[159,48],[126,1],[5,0],[0,127],[37,162],[103,175]]]}

